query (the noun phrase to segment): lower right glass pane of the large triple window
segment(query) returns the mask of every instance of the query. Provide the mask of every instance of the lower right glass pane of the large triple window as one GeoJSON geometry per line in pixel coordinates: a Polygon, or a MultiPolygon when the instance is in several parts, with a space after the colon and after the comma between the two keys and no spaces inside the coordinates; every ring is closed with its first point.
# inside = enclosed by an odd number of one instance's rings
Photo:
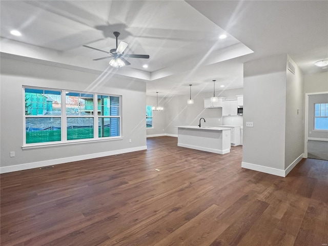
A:
{"type": "Polygon", "coordinates": [[[98,120],[99,137],[116,137],[120,136],[119,118],[100,117],[98,120]]]}

